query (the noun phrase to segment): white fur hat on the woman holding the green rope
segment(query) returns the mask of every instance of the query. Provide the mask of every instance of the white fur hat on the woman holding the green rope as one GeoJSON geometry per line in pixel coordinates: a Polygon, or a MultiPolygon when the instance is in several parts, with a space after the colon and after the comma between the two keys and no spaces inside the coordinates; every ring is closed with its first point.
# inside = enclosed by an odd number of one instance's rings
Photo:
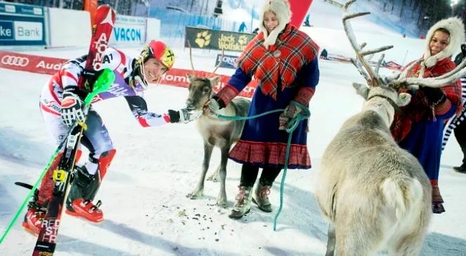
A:
{"type": "Polygon", "coordinates": [[[291,11],[290,3],[287,0],[266,0],[266,4],[262,6],[259,26],[264,33],[264,46],[268,49],[269,45],[276,43],[278,34],[285,29],[287,23],[290,23],[291,11]],[[264,27],[264,13],[273,11],[278,18],[278,26],[268,34],[266,27],[264,27]]]}

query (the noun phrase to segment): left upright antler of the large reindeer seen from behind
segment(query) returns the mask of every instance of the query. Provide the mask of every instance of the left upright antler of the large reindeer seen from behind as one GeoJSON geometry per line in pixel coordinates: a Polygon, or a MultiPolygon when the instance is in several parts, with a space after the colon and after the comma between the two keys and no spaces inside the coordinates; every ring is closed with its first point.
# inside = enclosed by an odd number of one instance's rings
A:
{"type": "Polygon", "coordinates": [[[368,51],[363,51],[363,48],[365,46],[365,43],[361,44],[361,46],[357,43],[356,41],[356,36],[354,35],[353,28],[351,27],[351,24],[349,23],[349,19],[351,18],[357,18],[361,17],[364,15],[370,14],[369,12],[365,13],[348,13],[348,8],[351,4],[354,4],[356,0],[349,0],[344,4],[343,11],[344,15],[342,18],[343,21],[343,27],[344,31],[347,33],[347,37],[349,39],[349,42],[351,43],[351,46],[353,47],[355,53],[356,53],[356,59],[351,58],[351,63],[353,63],[358,71],[363,75],[365,80],[368,82],[369,86],[372,87],[377,87],[380,85],[380,77],[379,77],[379,68],[380,65],[382,64],[382,60],[384,58],[384,55],[382,54],[382,58],[380,58],[379,62],[377,63],[377,68],[374,72],[372,67],[370,67],[370,64],[368,63],[367,60],[365,60],[364,56],[368,56],[370,54],[374,53],[380,53],[381,51],[386,51],[388,49],[393,48],[393,46],[382,46],[377,49],[373,50],[368,50],[368,51]]]}

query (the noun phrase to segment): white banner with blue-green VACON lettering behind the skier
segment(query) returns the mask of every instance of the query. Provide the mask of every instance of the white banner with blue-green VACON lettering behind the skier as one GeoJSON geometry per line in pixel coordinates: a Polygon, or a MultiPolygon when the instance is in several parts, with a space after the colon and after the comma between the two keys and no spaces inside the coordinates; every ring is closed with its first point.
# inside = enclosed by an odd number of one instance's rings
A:
{"type": "Polygon", "coordinates": [[[117,15],[110,37],[112,45],[145,44],[145,18],[117,15]]]}

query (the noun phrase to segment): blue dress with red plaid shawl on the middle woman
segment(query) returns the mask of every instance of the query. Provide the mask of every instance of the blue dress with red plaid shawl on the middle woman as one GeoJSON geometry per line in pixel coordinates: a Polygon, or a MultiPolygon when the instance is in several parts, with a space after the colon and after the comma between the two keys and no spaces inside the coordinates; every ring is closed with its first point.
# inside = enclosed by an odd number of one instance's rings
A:
{"type": "MultiPolygon", "coordinates": [[[[227,105],[255,76],[259,85],[248,116],[285,109],[291,101],[309,106],[319,79],[317,44],[289,24],[275,45],[267,49],[263,43],[261,32],[242,52],[235,74],[214,98],[221,105],[227,105]]],[[[280,113],[272,113],[247,120],[229,158],[243,164],[283,169],[288,134],[278,129],[279,116],[280,113]]],[[[311,168],[307,131],[308,122],[303,120],[292,134],[290,169],[311,168]]]]}

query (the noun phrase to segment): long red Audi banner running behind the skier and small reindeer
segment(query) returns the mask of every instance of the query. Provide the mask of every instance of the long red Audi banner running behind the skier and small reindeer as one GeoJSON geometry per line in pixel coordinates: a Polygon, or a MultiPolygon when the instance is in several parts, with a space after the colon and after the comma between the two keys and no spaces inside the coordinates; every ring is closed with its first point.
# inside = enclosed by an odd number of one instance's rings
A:
{"type": "MultiPolygon", "coordinates": [[[[34,56],[29,54],[12,53],[8,51],[0,51],[0,68],[8,68],[11,70],[22,70],[34,73],[53,75],[60,70],[63,63],[67,60],[63,58],[50,58],[44,56],[34,56]]],[[[189,81],[186,74],[193,74],[193,70],[184,70],[181,68],[171,68],[160,79],[160,84],[171,85],[175,87],[188,88],[189,81]]],[[[197,77],[211,77],[211,72],[195,71],[197,77]]],[[[220,82],[214,87],[217,92],[223,88],[230,79],[228,75],[219,75],[220,82]]],[[[252,80],[247,87],[243,89],[240,96],[252,98],[254,90],[257,87],[257,80],[252,80]]],[[[187,95],[187,94],[186,94],[187,95]]]]}

